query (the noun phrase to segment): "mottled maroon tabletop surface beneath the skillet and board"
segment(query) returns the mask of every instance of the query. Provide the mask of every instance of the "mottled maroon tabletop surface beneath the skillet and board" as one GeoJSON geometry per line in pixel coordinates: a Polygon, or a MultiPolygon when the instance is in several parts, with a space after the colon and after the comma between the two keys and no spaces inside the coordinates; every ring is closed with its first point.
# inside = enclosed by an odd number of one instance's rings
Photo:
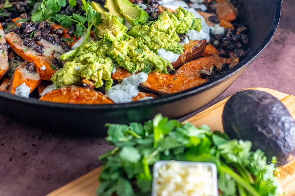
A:
{"type": "MultiPolygon", "coordinates": [[[[279,28],[268,48],[209,105],[249,87],[295,95],[294,10],[294,0],[283,2],[279,28]]],[[[109,148],[104,138],[48,133],[0,115],[0,195],[45,195],[98,167],[97,157],[109,148]]]]}

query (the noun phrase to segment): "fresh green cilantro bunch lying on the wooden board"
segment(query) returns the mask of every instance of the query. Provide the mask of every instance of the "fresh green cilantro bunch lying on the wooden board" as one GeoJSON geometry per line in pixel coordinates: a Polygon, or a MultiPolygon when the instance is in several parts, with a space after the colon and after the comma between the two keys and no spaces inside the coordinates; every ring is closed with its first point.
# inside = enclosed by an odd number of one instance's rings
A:
{"type": "MultiPolygon", "coordinates": [[[[152,165],[158,160],[184,160],[215,163],[220,195],[274,196],[282,193],[273,164],[266,165],[261,150],[252,152],[251,142],[230,140],[207,125],[196,128],[168,120],[161,114],[153,120],[130,125],[106,124],[108,140],[115,146],[100,159],[103,171],[100,196],[150,195],[152,165]],[[261,172],[261,170],[267,172],[261,172]],[[263,183],[271,182],[272,188],[263,183]]],[[[273,159],[275,160],[275,158],[273,159]]]]}

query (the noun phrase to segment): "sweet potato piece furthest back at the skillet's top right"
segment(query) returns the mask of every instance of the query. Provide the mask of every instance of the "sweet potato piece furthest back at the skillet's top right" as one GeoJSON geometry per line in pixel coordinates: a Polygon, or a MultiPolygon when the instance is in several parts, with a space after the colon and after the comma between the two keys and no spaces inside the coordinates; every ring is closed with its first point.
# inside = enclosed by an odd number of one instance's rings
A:
{"type": "Polygon", "coordinates": [[[234,9],[226,2],[226,0],[216,0],[214,4],[216,9],[216,15],[220,18],[228,21],[233,21],[236,19],[236,14],[234,9]]]}

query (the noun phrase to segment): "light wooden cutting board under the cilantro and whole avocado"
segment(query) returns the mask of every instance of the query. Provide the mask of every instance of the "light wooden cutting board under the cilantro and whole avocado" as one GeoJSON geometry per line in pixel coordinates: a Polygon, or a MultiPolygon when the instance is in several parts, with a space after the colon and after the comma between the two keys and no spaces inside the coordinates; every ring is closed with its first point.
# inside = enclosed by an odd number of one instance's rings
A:
{"type": "MultiPolygon", "coordinates": [[[[286,105],[293,119],[295,119],[295,96],[291,96],[285,93],[281,93],[269,88],[247,88],[253,90],[266,91],[271,95],[275,96],[281,102],[286,105]]],[[[246,89],[244,89],[246,90],[246,89]]],[[[198,113],[197,115],[186,120],[199,127],[202,124],[210,126],[211,130],[220,130],[223,132],[222,127],[222,110],[224,104],[230,97],[212,105],[206,110],[198,113]]],[[[288,174],[284,175],[280,179],[280,183],[283,187],[286,196],[295,196],[295,159],[282,168],[287,171],[288,174]]],[[[95,191],[99,186],[97,181],[98,176],[102,171],[102,167],[96,168],[91,172],[79,177],[78,179],[60,187],[59,189],[49,193],[46,196],[95,196],[95,191]]]]}

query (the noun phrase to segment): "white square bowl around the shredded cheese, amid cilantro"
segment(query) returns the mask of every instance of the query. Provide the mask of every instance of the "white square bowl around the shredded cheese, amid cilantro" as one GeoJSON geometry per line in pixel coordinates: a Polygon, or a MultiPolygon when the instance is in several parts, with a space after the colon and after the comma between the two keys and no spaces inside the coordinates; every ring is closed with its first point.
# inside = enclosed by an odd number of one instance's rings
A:
{"type": "MultiPolygon", "coordinates": [[[[156,186],[157,186],[157,178],[159,177],[158,175],[158,169],[162,165],[168,164],[170,161],[175,161],[175,160],[162,160],[162,161],[157,161],[154,166],[153,166],[153,181],[152,181],[152,196],[157,196],[156,195],[156,186]]],[[[211,168],[212,171],[212,180],[213,180],[213,196],[218,196],[218,185],[217,185],[217,169],[216,165],[214,163],[209,163],[209,162],[193,162],[193,161],[176,161],[177,163],[180,163],[181,165],[184,166],[196,166],[196,165],[203,165],[206,167],[211,168]]],[[[183,195],[185,196],[185,195],[183,195]]]]}

